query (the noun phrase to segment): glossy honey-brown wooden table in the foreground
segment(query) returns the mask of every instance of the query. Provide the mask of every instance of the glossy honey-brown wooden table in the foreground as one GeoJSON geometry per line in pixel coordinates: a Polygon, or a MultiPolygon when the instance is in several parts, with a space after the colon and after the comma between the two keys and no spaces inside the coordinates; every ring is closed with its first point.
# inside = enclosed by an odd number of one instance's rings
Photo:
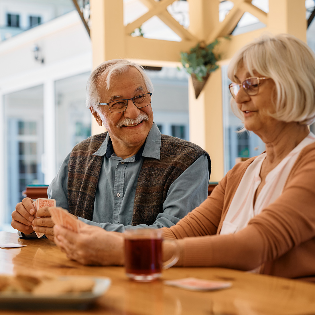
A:
{"type": "Polygon", "coordinates": [[[3,311],[1,314],[112,314],[112,315],[261,315],[315,314],[315,284],[250,274],[223,268],[173,267],[161,281],[136,283],[128,280],[123,267],[82,266],[69,261],[48,239],[20,240],[15,233],[0,232],[0,243],[27,247],[0,249],[0,273],[14,274],[20,268],[56,275],[93,275],[112,279],[112,285],[87,311],[3,311]],[[195,292],[163,284],[166,279],[196,277],[231,281],[230,289],[195,292]]]}

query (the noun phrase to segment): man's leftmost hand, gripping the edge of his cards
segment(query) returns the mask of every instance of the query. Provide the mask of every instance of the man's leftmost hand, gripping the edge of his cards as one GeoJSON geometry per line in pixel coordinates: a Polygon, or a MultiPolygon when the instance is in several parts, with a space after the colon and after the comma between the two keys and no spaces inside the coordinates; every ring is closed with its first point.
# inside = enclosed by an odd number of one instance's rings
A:
{"type": "Polygon", "coordinates": [[[24,198],[22,202],[15,206],[15,210],[12,212],[11,226],[25,234],[34,232],[31,227],[35,214],[35,208],[32,203],[33,199],[24,198]]]}

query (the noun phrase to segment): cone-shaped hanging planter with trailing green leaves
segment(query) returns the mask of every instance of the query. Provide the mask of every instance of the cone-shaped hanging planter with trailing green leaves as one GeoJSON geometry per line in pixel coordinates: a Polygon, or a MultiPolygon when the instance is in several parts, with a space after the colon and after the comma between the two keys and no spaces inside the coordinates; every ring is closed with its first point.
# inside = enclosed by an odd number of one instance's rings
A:
{"type": "Polygon", "coordinates": [[[180,62],[186,72],[192,76],[196,99],[206,84],[210,73],[219,68],[216,62],[220,60],[220,55],[213,53],[213,49],[218,43],[217,39],[209,45],[200,42],[188,53],[180,53],[180,62]]]}

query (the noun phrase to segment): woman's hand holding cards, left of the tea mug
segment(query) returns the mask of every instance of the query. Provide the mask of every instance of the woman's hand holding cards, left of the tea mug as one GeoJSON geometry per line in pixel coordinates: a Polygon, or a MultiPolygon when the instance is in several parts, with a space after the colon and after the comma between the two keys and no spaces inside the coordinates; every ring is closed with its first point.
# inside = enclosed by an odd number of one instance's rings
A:
{"type": "Polygon", "coordinates": [[[80,232],[54,226],[54,242],[69,259],[83,265],[123,265],[124,237],[117,232],[107,232],[98,226],[80,222],[80,232]]]}

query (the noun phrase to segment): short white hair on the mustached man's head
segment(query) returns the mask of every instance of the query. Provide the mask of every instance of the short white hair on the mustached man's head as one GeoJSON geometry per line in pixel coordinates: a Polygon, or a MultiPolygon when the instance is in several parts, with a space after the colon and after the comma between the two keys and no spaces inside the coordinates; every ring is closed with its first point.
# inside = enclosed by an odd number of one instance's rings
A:
{"type": "Polygon", "coordinates": [[[142,66],[129,60],[108,60],[96,67],[89,76],[86,84],[86,106],[98,112],[100,108],[99,88],[105,85],[106,89],[109,89],[112,78],[117,74],[127,72],[130,67],[134,67],[140,72],[146,89],[153,92],[153,84],[142,66]]]}

